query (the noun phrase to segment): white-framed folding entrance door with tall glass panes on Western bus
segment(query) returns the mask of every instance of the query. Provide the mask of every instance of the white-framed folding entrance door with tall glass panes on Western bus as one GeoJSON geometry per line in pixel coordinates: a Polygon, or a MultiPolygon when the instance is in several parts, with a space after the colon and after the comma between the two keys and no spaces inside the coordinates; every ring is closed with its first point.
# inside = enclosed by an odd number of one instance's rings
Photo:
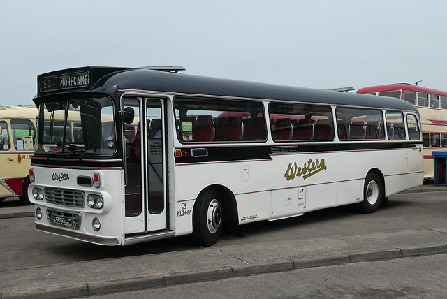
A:
{"type": "Polygon", "coordinates": [[[124,98],[123,107],[135,111],[133,124],[124,124],[123,130],[126,140],[124,232],[129,235],[165,230],[163,101],[124,98]]]}

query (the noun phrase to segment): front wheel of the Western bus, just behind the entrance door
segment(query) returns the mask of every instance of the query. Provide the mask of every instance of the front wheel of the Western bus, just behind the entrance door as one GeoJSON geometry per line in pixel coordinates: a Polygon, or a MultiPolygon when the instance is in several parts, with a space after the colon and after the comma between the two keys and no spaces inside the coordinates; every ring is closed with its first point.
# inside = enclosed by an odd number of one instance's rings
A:
{"type": "Polygon", "coordinates": [[[219,240],[223,228],[223,199],[215,189],[207,189],[197,198],[193,210],[193,241],[211,246],[219,240]]]}

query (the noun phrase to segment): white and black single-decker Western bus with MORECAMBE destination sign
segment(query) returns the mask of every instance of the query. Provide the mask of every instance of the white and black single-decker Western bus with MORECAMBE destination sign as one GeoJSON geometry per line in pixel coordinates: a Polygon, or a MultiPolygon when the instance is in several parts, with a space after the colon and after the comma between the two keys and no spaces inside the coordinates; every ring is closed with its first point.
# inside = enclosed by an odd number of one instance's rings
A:
{"type": "Polygon", "coordinates": [[[38,231],[100,245],[192,234],[210,246],[224,223],[350,204],[376,212],[423,183],[419,114],[406,101],[182,70],[38,76],[38,231]],[[77,119],[76,138],[54,140],[54,119],[77,119]]]}

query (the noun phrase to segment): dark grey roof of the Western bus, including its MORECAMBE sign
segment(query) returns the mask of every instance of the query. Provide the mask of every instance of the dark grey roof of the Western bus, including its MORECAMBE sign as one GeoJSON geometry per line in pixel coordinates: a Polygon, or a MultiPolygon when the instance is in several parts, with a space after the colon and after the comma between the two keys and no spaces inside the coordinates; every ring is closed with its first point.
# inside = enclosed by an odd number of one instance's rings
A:
{"type": "Polygon", "coordinates": [[[247,99],[273,99],[333,105],[353,105],[395,110],[418,110],[406,101],[382,96],[334,92],[284,85],[272,85],[198,75],[177,70],[150,68],[110,68],[89,66],[38,75],[38,94],[34,99],[66,92],[98,92],[113,96],[117,91],[151,91],[166,94],[225,96],[247,99]],[[50,87],[48,87],[50,85],[50,87]]]}

